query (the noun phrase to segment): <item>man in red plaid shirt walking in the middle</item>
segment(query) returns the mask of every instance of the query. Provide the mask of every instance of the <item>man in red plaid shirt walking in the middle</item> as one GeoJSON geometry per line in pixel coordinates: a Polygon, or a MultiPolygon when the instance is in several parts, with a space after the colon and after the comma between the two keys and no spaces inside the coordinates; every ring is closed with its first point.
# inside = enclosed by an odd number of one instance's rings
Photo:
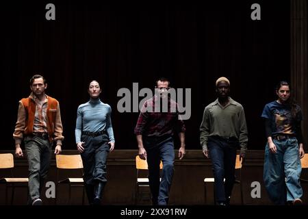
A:
{"type": "Polygon", "coordinates": [[[166,78],[156,81],[155,95],[144,103],[135,127],[139,156],[146,159],[149,166],[153,205],[168,204],[174,172],[175,151],[172,137],[175,131],[179,133],[181,142],[179,159],[185,155],[185,125],[179,115],[177,103],[168,96],[169,86],[170,82],[166,78]],[[160,160],[163,163],[162,181],[159,181],[160,160]]]}

